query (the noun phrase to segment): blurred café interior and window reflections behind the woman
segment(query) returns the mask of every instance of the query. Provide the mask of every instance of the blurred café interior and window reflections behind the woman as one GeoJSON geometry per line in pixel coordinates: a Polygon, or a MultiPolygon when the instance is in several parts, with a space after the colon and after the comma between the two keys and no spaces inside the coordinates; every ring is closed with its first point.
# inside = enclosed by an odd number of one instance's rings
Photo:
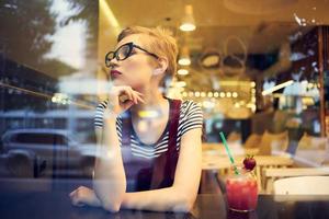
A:
{"type": "Polygon", "coordinates": [[[259,195],[329,195],[328,9],[326,0],[0,3],[1,193],[92,180],[95,108],[112,85],[104,57],[138,25],[172,34],[178,71],[166,95],[202,108],[198,194],[225,194],[232,165],[252,155],[259,195]]]}

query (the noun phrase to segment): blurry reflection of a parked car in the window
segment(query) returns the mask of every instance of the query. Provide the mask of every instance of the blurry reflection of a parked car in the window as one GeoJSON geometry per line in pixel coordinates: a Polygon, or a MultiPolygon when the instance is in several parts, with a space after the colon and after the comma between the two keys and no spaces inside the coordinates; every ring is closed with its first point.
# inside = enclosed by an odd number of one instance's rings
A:
{"type": "Polygon", "coordinates": [[[46,175],[90,175],[93,169],[95,143],[79,143],[67,130],[9,130],[2,136],[2,143],[3,152],[13,161],[9,163],[37,161],[34,171],[43,170],[46,175]]]}

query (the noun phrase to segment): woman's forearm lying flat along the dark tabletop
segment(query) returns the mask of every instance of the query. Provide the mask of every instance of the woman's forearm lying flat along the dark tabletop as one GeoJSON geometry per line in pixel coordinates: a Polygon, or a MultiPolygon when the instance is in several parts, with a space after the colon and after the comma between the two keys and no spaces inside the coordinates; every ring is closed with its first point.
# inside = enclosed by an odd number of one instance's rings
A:
{"type": "Polygon", "coordinates": [[[196,194],[183,194],[174,187],[154,191],[126,193],[122,208],[155,211],[189,212],[195,201],[196,194]]]}

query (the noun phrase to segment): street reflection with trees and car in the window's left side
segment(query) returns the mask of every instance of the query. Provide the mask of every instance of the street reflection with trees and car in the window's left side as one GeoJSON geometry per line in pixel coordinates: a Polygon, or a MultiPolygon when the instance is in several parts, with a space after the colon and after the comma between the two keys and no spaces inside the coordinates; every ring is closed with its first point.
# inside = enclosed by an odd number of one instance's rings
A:
{"type": "Polygon", "coordinates": [[[0,10],[2,176],[91,177],[97,99],[61,83],[94,78],[98,2],[5,1],[0,10]]]}

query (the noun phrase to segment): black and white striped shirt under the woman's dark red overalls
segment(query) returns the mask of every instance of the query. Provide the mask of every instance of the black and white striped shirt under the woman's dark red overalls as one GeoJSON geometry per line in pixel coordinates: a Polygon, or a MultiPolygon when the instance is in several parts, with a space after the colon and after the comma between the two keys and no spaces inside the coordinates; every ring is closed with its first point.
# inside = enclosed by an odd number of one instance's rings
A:
{"type": "MultiPolygon", "coordinates": [[[[97,128],[103,127],[103,113],[107,102],[101,102],[97,107],[94,126],[97,128]]],[[[177,137],[177,150],[180,149],[181,137],[189,130],[194,128],[202,128],[203,114],[200,106],[192,101],[183,101],[180,107],[180,119],[177,137]]],[[[122,117],[116,118],[116,131],[120,142],[122,142],[122,117]]],[[[169,129],[168,125],[160,139],[154,145],[143,143],[136,132],[133,130],[131,134],[132,152],[136,157],[141,158],[156,158],[168,150],[169,129]]]]}

